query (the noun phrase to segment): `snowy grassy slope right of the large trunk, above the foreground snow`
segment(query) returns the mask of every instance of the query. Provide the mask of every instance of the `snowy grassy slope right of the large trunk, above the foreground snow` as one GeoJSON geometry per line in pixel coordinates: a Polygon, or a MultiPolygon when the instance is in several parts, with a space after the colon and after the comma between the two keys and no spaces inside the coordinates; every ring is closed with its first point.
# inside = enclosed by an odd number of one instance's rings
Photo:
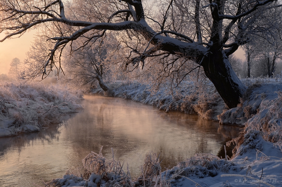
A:
{"type": "Polygon", "coordinates": [[[240,136],[232,140],[236,144],[233,157],[245,151],[241,145],[254,134],[282,151],[282,83],[269,78],[252,81],[241,103],[218,115],[221,124],[244,126],[240,136]]]}

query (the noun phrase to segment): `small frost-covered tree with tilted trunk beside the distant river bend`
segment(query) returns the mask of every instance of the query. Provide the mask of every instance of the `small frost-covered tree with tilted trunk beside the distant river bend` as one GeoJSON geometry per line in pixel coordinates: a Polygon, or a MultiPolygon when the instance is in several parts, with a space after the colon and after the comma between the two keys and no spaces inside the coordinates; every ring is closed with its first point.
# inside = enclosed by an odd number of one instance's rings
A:
{"type": "Polygon", "coordinates": [[[109,90],[105,80],[109,80],[110,69],[114,65],[115,48],[103,41],[99,46],[85,46],[83,50],[72,54],[71,58],[66,56],[63,61],[66,64],[66,76],[61,81],[83,90],[94,88],[98,83],[104,91],[109,90]]]}

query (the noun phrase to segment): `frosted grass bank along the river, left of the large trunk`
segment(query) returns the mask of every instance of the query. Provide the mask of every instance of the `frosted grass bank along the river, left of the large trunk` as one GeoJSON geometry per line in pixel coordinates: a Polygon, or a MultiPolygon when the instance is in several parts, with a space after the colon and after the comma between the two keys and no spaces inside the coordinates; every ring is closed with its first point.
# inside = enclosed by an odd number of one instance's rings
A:
{"type": "Polygon", "coordinates": [[[227,107],[210,81],[206,81],[205,84],[187,81],[178,90],[168,87],[152,90],[149,85],[137,82],[117,82],[110,87],[112,89],[108,92],[96,89],[93,93],[132,99],[166,112],[183,111],[186,114],[198,114],[203,119],[213,121],[218,121],[217,115],[227,107]]]}

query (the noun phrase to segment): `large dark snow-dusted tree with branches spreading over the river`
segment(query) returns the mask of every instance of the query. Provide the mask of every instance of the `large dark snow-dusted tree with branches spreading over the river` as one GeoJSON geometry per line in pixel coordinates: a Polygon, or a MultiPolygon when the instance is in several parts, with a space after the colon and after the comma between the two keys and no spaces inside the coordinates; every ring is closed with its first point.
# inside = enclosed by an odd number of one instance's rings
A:
{"type": "Polygon", "coordinates": [[[144,67],[147,59],[162,56],[176,59],[163,64],[176,72],[186,70],[174,69],[178,59],[187,60],[188,65],[193,61],[203,68],[229,108],[236,107],[246,87],[232,70],[228,56],[258,35],[274,32],[281,24],[274,15],[281,13],[278,1],[158,0],[153,7],[149,2],[0,0],[0,32],[6,32],[0,41],[43,28],[49,51],[41,55],[44,58],[38,65],[30,66],[35,70],[27,73],[28,77],[45,75],[54,67],[60,70],[61,52],[68,43],[80,38],[83,48],[105,37],[107,30],[116,31],[127,49],[125,68],[144,67]],[[269,20],[271,24],[265,24],[269,20]]]}

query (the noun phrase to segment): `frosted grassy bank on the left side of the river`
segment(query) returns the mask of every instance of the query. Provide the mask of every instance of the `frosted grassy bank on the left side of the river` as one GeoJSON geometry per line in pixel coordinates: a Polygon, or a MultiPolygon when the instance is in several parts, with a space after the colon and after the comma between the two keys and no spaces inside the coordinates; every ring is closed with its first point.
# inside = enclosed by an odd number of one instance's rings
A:
{"type": "Polygon", "coordinates": [[[41,83],[20,84],[0,81],[0,137],[39,131],[60,123],[60,117],[82,107],[82,98],[66,89],[41,83]]]}

